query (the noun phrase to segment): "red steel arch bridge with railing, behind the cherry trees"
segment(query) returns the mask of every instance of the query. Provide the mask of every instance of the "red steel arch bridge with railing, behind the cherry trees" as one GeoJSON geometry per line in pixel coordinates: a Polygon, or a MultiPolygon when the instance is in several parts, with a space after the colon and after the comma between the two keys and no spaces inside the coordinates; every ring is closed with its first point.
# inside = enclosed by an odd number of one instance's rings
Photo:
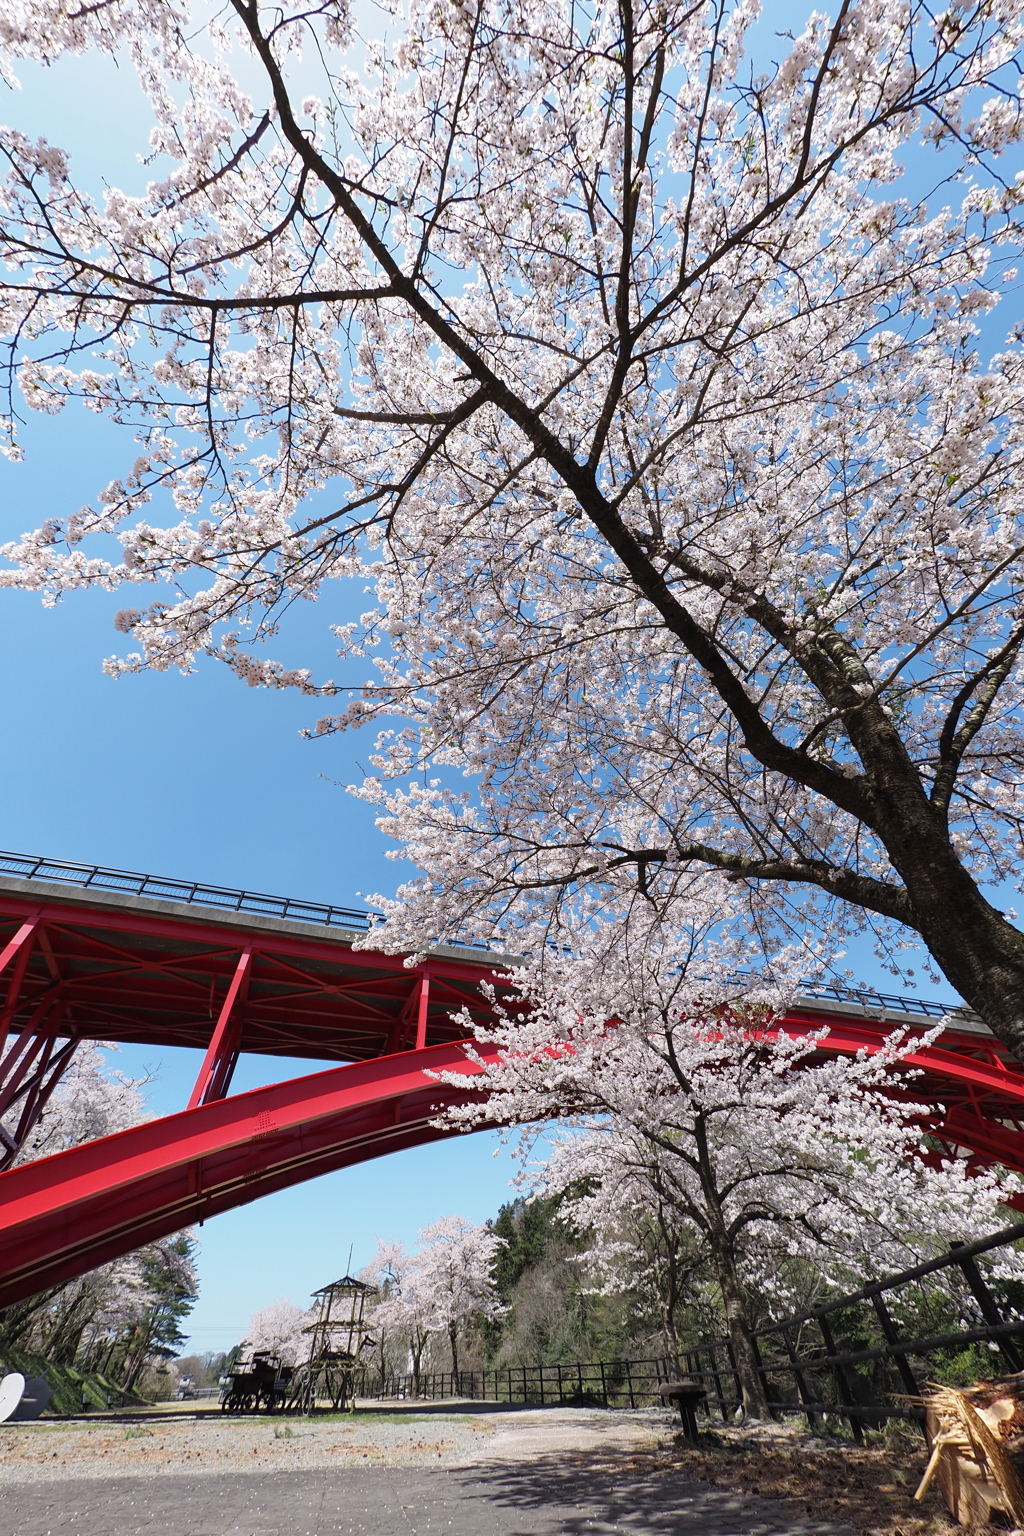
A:
{"type": "MultiPolygon", "coordinates": [[[[365,912],[0,854],[0,1307],[143,1243],[318,1174],[450,1132],[465,1064],[453,1014],[487,1017],[507,968],[439,948],[416,966],[358,948],[365,912]],[[6,1046],[5,1046],[6,1040],[6,1046]],[[83,1040],[204,1051],[178,1114],[11,1167],[83,1040]],[[322,1071],[229,1094],[241,1052],[322,1071]]],[[[923,1034],[938,1005],[800,997],[791,1032],[824,1051],[923,1034]]],[[[936,1149],[1024,1172],[1024,1068],[969,1011],[909,1064],[936,1149]]]]}

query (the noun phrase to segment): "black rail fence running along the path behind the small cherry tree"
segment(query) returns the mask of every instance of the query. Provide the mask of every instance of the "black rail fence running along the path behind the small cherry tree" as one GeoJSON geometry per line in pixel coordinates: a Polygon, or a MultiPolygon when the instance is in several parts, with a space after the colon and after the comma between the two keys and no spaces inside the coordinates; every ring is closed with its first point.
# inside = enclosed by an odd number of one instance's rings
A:
{"type": "MultiPolygon", "coordinates": [[[[1024,1240],[1024,1223],[874,1281],[852,1295],[754,1332],[774,1415],[841,1418],[855,1439],[889,1418],[921,1419],[912,1401],[932,1379],[1001,1376],[1024,1369],[1024,1284],[981,1273],[978,1258],[1024,1240]],[[987,1370],[984,1367],[989,1367],[987,1370]]],[[[648,1407],[659,1385],[699,1381],[709,1416],[731,1419],[742,1402],[728,1339],[694,1341],[679,1359],[616,1359],[505,1370],[395,1376],[362,1382],[379,1398],[476,1398],[496,1402],[648,1407]]]]}

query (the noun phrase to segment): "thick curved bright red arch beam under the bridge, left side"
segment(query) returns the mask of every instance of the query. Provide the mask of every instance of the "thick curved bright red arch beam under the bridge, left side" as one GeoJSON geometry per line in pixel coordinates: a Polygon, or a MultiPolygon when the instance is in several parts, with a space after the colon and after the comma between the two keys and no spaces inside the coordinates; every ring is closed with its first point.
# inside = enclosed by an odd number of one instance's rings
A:
{"type": "MultiPolygon", "coordinates": [[[[484,1052],[485,1054],[485,1052],[484,1052]]],[[[332,1068],[86,1141],[0,1175],[0,1307],[259,1195],[451,1132],[457,1044],[332,1068]]]]}

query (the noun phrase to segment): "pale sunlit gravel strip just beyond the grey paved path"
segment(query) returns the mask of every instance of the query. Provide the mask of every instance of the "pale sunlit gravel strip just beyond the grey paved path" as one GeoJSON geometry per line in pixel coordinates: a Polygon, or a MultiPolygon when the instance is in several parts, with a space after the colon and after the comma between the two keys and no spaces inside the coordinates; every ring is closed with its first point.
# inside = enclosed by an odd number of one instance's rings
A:
{"type": "Polygon", "coordinates": [[[567,1452],[652,1452],[671,1439],[659,1412],[534,1409],[356,1413],[315,1419],[197,1412],[103,1415],[0,1425],[0,1484],[152,1478],[224,1471],[302,1471],[321,1467],[471,1467],[533,1461],[567,1452]]]}

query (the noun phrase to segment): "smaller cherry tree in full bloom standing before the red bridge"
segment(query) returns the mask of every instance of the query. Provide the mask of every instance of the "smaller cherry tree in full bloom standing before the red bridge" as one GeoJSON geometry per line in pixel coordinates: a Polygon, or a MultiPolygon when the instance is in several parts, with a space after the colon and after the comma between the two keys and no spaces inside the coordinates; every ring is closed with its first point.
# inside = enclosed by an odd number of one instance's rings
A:
{"type": "Polygon", "coordinates": [[[789,1309],[794,1260],[847,1283],[903,1269],[1006,1224],[1001,1203],[1024,1181],[924,1155],[926,1106],[900,1066],[920,1041],[897,1032],[878,1055],[829,1055],[827,1029],[803,1040],[777,1028],[785,997],[695,983],[676,954],[648,935],[633,957],[582,945],[557,969],[517,975],[530,1009],[476,1029],[497,1041],[497,1063],[467,1048],[487,1098],[447,1118],[533,1126],[528,1150],[536,1126],[562,1117],[536,1187],[563,1192],[562,1212],[593,1233],[591,1278],[611,1290],[623,1269],[637,1278],[651,1256],[636,1229],[660,1223],[659,1261],[703,1260],[717,1284],[743,1405],[761,1415],[752,1287],[789,1309]]]}

